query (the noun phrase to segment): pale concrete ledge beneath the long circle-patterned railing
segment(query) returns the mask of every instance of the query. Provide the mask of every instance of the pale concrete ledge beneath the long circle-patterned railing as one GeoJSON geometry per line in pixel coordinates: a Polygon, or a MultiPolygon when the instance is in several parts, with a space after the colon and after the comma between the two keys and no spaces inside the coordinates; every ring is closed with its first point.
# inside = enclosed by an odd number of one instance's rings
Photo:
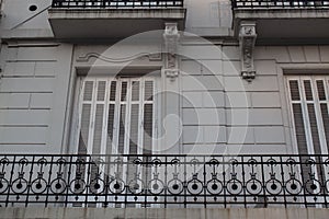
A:
{"type": "Polygon", "coordinates": [[[329,209],[321,208],[0,208],[3,219],[328,219],[328,216],[329,209]]]}

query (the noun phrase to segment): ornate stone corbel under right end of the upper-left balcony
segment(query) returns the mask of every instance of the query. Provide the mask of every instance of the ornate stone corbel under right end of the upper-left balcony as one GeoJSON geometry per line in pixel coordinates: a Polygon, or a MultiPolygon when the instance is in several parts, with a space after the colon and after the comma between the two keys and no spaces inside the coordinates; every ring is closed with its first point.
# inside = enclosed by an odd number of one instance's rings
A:
{"type": "Polygon", "coordinates": [[[174,81],[179,76],[177,48],[179,44],[180,34],[177,23],[166,23],[163,39],[164,39],[164,74],[174,81]]]}

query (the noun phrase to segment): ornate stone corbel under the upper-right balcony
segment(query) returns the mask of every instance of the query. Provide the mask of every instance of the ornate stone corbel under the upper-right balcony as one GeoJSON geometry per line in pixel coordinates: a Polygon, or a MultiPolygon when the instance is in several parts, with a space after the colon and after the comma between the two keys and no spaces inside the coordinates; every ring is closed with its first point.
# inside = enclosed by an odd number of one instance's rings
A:
{"type": "Polygon", "coordinates": [[[256,44],[256,22],[241,22],[239,32],[241,77],[251,82],[256,77],[253,49],[256,44]]]}

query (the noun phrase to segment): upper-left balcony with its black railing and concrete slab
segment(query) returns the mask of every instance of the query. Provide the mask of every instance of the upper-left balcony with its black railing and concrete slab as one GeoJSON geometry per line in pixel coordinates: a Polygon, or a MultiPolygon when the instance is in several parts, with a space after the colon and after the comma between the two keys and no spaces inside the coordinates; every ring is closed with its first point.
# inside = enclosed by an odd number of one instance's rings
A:
{"type": "Polygon", "coordinates": [[[167,22],[183,30],[186,10],[183,0],[53,0],[48,13],[56,38],[120,39],[167,22]]]}

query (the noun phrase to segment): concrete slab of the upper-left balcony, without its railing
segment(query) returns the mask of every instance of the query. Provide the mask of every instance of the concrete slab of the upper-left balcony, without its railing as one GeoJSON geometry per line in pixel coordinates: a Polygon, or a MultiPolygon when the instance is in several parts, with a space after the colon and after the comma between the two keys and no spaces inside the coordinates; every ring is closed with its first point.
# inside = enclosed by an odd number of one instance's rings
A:
{"type": "Polygon", "coordinates": [[[49,23],[56,38],[123,38],[163,30],[166,22],[184,28],[185,9],[50,9],[49,23]]]}

